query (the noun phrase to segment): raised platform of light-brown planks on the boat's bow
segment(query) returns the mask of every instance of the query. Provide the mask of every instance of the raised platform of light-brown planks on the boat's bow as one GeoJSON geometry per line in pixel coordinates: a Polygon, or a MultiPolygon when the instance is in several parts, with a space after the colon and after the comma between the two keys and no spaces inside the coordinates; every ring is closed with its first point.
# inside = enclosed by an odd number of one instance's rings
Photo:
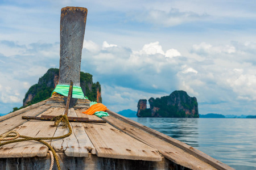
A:
{"type": "MultiPolygon", "coordinates": [[[[63,107],[53,107],[55,104],[49,103],[34,108],[31,111],[20,113],[16,117],[7,118],[0,122],[0,126],[6,125],[7,130],[16,130],[21,135],[30,137],[57,137],[68,133],[68,129],[63,129],[62,126],[53,126],[52,121],[38,120],[22,120],[23,114],[34,114],[39,117],[44,115],[58,116],[64,114],[63,107]],[[47,108],[47,109],[46,109],[47,108]],[[43,111],[43,112],[42,112],[43,111]],[[22,120],[20,122],[15,120],[22,120]],[[13,121],[13,124],[10,124],[13,121]]],[[[79,104],[79,103],[78,103],[79,104]]],[[[69,109],[68,116],[72,117],[88,117],[92,120],[101,120],[97,116],[88,116],[81,113],[86,111],[83,109],[69,109]]],[[[87,157],[89,152],[97,154],[99,157],[116,158],[116,159],[131,159],[131,160],[147,160],[161,161],[162,156],[158,150],[152,148],[129,135],[122,133],[110,124],[86,124],[81,122],[71,122],[73,133],[64,139],[56,139],[47,141],[50,143],[56,152],[64,152],[67,156],[72,157],[87,157]]],[[[1,130],[2,133],[2,130],[1,130]]],[[[46,156],[48,148],[42,143],[35,141],[26,141],[11,143],[0,148],[0,158],[30,158],[34,156],[46,156]]]]}

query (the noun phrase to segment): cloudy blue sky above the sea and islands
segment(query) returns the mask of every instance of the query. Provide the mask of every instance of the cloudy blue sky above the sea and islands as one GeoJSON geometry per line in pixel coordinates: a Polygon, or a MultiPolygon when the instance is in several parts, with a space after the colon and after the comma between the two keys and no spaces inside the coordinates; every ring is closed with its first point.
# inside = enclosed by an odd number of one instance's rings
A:
{"type": "Polygon", "coordinates": [[[59,68],[66,6],[88,8],[81,71],[110,110],[183,90],[200,114],[256,115],[256,2],[236,0],[1,0],[0,113],[59,68]]]}

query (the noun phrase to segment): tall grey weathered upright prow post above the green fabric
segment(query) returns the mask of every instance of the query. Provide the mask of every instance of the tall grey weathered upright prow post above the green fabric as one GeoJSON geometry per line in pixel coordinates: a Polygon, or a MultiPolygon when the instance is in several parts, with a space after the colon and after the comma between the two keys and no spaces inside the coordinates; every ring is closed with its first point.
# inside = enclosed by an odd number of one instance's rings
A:
{"type": "Polygon", "coordinates": [[[80,86],[82,43],[87,9],[82,7],[61,8],[60,18],[60,71],[58,84],[80,86]]]}

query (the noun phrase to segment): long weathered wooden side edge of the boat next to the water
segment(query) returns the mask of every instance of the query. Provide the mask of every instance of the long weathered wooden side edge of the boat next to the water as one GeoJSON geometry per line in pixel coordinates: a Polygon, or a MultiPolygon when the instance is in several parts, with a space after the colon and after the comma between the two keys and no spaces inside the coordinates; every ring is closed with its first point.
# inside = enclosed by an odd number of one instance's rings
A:
{"type": "Polygon", "coordinates": [[[196,150],[195,148],[189,145],[186,145],[185,143],[180,142],[174,138],[168,137],[167,135],[164,135],[159,131],[156,131],[151,128],[148,128],[147,126],[141,125],[138,122],[130,120],[129,118],[121,116],[120,114],[117,114],[115,112],[112,112],[109,110],[107,112],[113,117],[116,117],[116,118],[104,117],[104,119],[108,121],[110,124],[112,124],[118,129],[121,129],[125,133],[133,136],[134,138],[137,138],[138,140],[142,140],[144,141],[144,143],[148,143],[148,145],[151,145],[152,147],[157,148],[163,156],[174,161],[177,164],[183,165],[184,167],[188,167],[188,168],[191,168],[191,165],[192,165],[193,166],[192,169],[200,169],[201,168],[200,166],[204,164],[211,165],[216,169],[233,169],[228,165],[210,157],[209,155],[204,154],[203,152],[196,150]],[[127,127],[130,127],[130,129],[127,127]],[[155,139],[156,141],[154,141],[155,139]],[[162,145],[158,145],[157,141],[159,142],[162,141],[164,143],[162,143],[162,145]],[[162,148],[162,146],[170,146],[170,149],[175,147],[175,148],[181,149],[180,150],[181,152],[167,151],[166,147],[162,148]],[[183,157],[185,155],[188,156],[187,160],[185,160],[185,162],[179,162],[179,160],[183,160],[183,159],[179,159],[179,156],[183,157]],[[175,158],[175,156],[177,157],[175,158]],[[200,160],[202,164],[199,164],[199,166],[197,166],[196,163],[190,162],[189,160],[191,160],[192,158],[196,158],[200,160]]]}

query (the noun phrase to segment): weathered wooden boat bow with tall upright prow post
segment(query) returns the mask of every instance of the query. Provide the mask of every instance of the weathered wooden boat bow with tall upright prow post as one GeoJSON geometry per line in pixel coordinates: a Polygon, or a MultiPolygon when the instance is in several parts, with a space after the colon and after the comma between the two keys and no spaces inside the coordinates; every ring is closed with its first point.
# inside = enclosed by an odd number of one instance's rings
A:
{"type": "MultiPolygon", "coordinates": [[[[72,16],[72,22],[74,22],[74,18],[80,17],[77,14],[79,12],[86,19],[85,8],[63,8],[62,23],[69,24],[70,20],[64,21],[66,15],[72,16]]],[[[82,19],[80,21],[82,22],[82,19]]],[[[79,25],[76,22],[75,20],[75,25],[79,25]]],[[[73,29],[72,33],[82,32],[81,25],[77,28],[80,31],[77,31],[73,25],[68,27],[73,29]]],[[[62,31],[66,31],[62,34],[69,36],[68,27],[62,25],[62,31]]],[[[69,50],[61,53],[64,59],[67,54],[71,54],[68,57],[74,57],[72,56],[73,44],[71,43],[72,48],[69,45],[61,41],[62,48],[69,50]]],[[[81,54],[81,46],[78,48],[80,52],[77,53],[81,54]]],[[[80,54],[78,56],[81,62],[80,54]]],[[[73,68],[73,62],[79,63],[79,58],[63,61],[60,56],[59,83],[67,84],[72,79],[74,84],[80,86],[79,76],[74,76],[74,74],[80,75],[80,65],[77,64],[79,65],[79,71],[77,71],[73,68]],[[75,71],[67,70],[67,67],[62,67],[63,65],[68,65],[70,66],[68,69],[75,71]]],[[[82,113],[89,108],[89,104],[88,99],[78,99],[72,108],[66,109],[64,96],[53,94],[47,100],[0,117],[0,135],[11,130],[29,137],[52,138],[65,135],[69,131],[68,128],[63,128],[61,125],[53,126],[52,121],[22,119],[22,116],[59,116],[67,111],[68,117],[105,120],[106,123],[69,122],[72,129],[71,135],[61,139],[43,140],[56,151],[60,169],[233,169],[183,142],[110,110],[106,111],[109,116],[102,118],[82,113]]],[[[9,143],[0,148],[0,169],[49,169],[50,157],[49,148],[40,141],[9,143]]],[[[53,169],[57,168],[55,163],[53,169]]]]}

